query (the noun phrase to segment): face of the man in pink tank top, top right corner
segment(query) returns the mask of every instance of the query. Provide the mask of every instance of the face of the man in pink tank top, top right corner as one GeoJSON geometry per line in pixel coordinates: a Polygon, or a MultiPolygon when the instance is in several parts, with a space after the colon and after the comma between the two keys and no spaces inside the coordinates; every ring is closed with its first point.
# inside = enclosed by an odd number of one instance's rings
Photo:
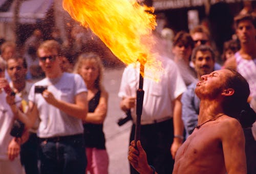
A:
{"type": "Polygon", "coordinates": [[[241,44],[246,44],[254,41],[256,36],[256,29],[250,20],[241,20],[238,24],[236,33],[241,44]]]}

